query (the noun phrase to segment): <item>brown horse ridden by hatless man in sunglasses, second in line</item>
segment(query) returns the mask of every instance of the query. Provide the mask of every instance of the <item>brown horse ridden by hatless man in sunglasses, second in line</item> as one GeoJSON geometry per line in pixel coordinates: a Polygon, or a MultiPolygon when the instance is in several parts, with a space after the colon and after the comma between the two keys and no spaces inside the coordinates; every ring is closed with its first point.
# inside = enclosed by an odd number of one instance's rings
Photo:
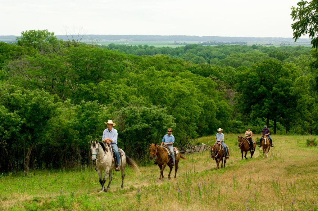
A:
{"type": "MultiPolygon", "coordinates": [[[[163,179],[163,170],[164,168],[166,167],[166,165],[169,166],[170,168],[170,171],[169,171],[169,174],[168,174],[168,179],[170,179],[170,174],[171,174],[171,171],[172,171],[172,165],[171,165],[171,161],[172,161],[172,158],[168,155],[168,152],[167,150],[162,147],[162,146],[159,146],[157,145],[156,143],[155,144],[149,144],[150,147],[149,147],[149,152],[150,152],[150,156],[149,158],[150,159],[154,159],[156,158],[156,162],[158,163],[158,166],[160,168],[160,177],[159,177],[159,180],[163,179]]],[[[176,148],[176,147],[174,147],[176,148]]],[[[178,148],[176,148],[178,150],[178,148]]],[[[179,151],[179,150],[178,150],[179,151]]],[[[175,159],[175,178],[176,178],[176,174],[177,174],[177,171],[178,171],[178,164],[179,164],[179,160],[180,158],[184,159],[184,160],[188,160],[186,157],[184,157],[180,151],[178,154],[175,155],[176,159],[175,159]]]]}

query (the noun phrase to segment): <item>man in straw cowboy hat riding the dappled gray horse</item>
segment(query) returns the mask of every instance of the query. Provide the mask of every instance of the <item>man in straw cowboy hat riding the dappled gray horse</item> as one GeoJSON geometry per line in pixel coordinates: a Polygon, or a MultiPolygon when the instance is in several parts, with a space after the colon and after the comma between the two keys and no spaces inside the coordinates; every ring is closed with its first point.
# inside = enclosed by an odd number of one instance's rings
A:
{"type": "Polygon", "coordinates": [[[117,146],[117,130],[113,128],[116,124],[112,120],[108,120],[108,122],[104,122],[107,125],[107,129],[103,132],[103,142],[110,144],[113,148],[115,158],[117,161],[117,165],[115,171],[120,171],[120,155],[117,146]]]}

